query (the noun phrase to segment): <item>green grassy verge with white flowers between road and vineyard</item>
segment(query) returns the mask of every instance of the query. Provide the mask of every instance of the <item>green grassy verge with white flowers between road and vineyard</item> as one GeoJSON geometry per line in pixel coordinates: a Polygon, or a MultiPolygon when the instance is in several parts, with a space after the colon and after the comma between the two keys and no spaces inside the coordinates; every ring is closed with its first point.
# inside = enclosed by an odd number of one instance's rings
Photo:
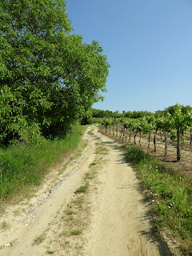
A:
{"type": "Polygon", "coordinates": [[[192,186],[190,178],[134,146],[126,147],[126,161],[134,166],[147,189],[158,231],[166,230],[185,255],[192,255],[192,186]]]}

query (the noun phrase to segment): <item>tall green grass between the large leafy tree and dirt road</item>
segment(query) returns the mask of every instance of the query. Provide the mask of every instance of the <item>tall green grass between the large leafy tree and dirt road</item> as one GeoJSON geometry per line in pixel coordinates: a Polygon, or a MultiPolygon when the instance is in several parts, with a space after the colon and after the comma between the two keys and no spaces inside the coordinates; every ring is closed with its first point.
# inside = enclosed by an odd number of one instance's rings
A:
{"type": "Polygon", "coordinates": [[[44,140],[40,145],[16,143],[0,148],[0,200],[41,184],[50,166],[78,147],[83,130],[85,127],[76,126],[63,138],[44,140]]]}

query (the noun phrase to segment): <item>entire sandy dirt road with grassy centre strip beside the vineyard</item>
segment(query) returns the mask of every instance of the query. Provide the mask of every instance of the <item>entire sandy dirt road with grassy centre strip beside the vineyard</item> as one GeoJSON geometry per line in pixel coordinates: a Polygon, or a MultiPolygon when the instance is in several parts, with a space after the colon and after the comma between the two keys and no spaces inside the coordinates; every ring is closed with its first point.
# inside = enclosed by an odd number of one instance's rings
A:
{"type": "Polygon", "coordinates": [[[170,255],[153,235],[149,206],[122,147],[86,130],[78,159],[52,170],[34,198],[0,218],[0,256],[170,255]]]}

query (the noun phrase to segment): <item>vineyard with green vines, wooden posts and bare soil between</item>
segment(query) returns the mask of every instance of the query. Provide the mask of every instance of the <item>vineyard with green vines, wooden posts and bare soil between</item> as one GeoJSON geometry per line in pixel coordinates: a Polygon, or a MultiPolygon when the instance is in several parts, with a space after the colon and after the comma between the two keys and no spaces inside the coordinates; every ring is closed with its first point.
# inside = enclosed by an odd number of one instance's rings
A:
{"type": "Polygon", "coordinates": [[[106,118],[100,130],[136,145],[179,170],[192,174],[192,111],[176,104],[161,117],[106,118]]]}

